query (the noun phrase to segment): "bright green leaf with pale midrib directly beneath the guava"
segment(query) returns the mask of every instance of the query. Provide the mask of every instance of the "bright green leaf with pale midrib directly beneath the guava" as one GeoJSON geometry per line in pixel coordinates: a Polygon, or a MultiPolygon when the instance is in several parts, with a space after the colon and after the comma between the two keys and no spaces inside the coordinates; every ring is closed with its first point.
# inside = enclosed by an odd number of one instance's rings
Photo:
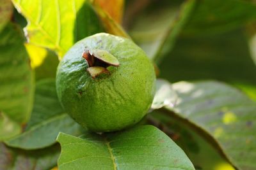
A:
{"type": "Polygon", "coordinates": [[[194,169],[185,153],[151,125],[113,134],[60,133],[61,169],[194,169]]]}

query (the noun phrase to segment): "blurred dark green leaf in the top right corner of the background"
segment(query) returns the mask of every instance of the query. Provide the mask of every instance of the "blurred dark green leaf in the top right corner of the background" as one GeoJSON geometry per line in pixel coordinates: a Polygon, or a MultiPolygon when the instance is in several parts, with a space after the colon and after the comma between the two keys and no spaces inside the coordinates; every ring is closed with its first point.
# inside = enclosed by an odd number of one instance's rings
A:
{"type": "Polygon", "coordinates": [[[237,0],[197,1],[183,34],[202,36],[239,28],[256,19],[256,5],[237,0]]]}

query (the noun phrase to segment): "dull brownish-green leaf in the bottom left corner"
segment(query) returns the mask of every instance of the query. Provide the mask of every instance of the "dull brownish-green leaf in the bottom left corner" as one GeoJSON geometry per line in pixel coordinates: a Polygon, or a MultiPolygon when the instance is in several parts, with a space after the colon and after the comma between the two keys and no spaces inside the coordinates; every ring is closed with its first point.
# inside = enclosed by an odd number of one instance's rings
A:
{"type": "Polygon", "coordinates": [[[41,150],[26,151],[0,143],[0,169],[42,170],[56,166],[60,145],[41,150]]]}

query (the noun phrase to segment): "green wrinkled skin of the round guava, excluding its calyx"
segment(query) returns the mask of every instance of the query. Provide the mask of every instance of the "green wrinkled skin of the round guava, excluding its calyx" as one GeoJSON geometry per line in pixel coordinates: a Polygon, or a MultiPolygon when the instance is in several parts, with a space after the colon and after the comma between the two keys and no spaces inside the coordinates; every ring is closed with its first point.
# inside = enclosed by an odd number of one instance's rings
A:
{"type": "Polygon", "coordinates": [[[154,67],[131,40],[99,33],[77,42],[61,60],[56,89],[67,113],[94,132],[118,131],[136,124],[151,106],[154,67]],[[107,50],[119,60],[110,74],[92,78],[81,56],[84,49],[107,50]]]}

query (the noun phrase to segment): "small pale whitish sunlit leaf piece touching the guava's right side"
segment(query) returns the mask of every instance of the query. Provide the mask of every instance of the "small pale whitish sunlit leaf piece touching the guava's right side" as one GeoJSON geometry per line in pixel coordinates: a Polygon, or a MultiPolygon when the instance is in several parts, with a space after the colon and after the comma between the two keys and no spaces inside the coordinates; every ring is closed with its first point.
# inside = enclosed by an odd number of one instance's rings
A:
{"type": "Polygon", "coordinates": [[[174,105],[177,99],[176,92],[172,89],[172,85],[163,79],[156,80],[156,94],[152,103],[152,109],[163,108],[169,104],[174,105]]]}

